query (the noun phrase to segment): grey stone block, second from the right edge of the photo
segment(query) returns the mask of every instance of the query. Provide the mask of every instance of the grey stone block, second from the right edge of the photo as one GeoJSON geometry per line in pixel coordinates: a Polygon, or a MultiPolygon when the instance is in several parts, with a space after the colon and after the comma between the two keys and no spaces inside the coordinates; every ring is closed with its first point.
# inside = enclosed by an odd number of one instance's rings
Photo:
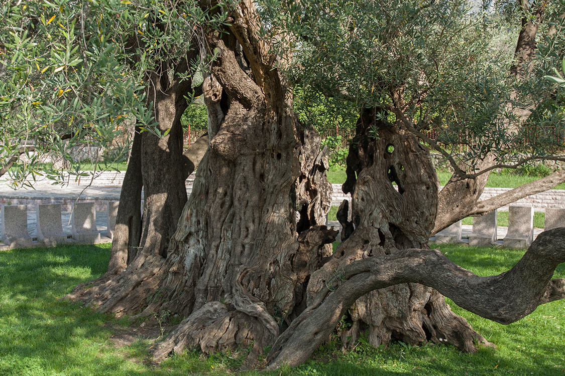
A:
{"type": "Polygon", "coordinates": [[[503,239],[506,248],[525,249],[533,240],[533,207],[508,207],[508,232],[503,239]]]}

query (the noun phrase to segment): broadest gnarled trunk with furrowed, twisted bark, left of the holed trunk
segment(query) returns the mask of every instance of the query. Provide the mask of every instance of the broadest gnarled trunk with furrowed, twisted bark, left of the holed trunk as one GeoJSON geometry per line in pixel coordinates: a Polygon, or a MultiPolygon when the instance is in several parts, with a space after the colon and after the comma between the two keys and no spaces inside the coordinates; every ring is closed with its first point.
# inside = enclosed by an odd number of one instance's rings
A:
{"type": "MultiPolygon", "coordinates": [[[[253,345],[253,361],[305,307],[308,278],[337,234],[321,226],[331,196],[325,152],[314,132],[300,129],[275,57],[254,39],[256,22],[253,3],[244,1],[235,6],[231,33],[206,34],[207,48],[218,52],[203,85],[210,146],[184,209],[158,204],[175,174],[142,169],[144,184],[146,174],[153,179],[146,205],[160,209],[144,211],[145,246],[111,280],[69,295],[116,315],[186,317],[151,349],[155,359],[186,347],[208,353],[253,345]],[[179,225],[159,251],[165,236],[158,236],[166,235],[159,226],[174,220],[173,209],[182,209],[179,225]]],[[[176,111],[171,97],[157,102],[163,113],[176,111]]],[[[176,117],[169,138],[175,125],[176,117]]],[[[151,145],[142,157],[147,169],[176,147],[151,145]]]]}

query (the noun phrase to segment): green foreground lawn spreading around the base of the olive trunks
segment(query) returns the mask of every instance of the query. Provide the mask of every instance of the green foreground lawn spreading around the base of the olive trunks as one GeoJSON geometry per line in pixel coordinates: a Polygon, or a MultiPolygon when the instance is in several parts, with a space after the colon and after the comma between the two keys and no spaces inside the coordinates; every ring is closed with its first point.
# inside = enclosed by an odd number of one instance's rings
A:
{"type": "MultiPolygon", "coordinates": [[[[450,346],[392,343],[373,349],[362,338],[342,353],[331,342],[309,362],[273,372],[241,371],[245,351],[204,357],[175,355],[160,365],[148,362],[151,345],[138,340],[115,348],[112,327],[131,324],[79,304],[59,300],[80,282],[105,271],[110,245],[59,246],[0,253],[0,375],[563,375],[565,304],[538,307],[507,326],[481,319],[451,304],[454,311],[497,348],[476,354],[450,346]]],[[[479,275],[510,268],[523,251],[457,245],[440,249],[479,275]]],[[[561,265],[555,277],[565,277],[561,265]]]]}

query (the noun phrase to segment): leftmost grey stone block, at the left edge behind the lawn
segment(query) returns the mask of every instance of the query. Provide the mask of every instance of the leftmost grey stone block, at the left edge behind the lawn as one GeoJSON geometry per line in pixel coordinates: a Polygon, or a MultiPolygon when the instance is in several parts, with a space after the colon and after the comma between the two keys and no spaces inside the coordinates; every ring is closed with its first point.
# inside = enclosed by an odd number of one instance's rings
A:
{"type": "Polygon", "coordinates": [[[10,248],[29,248],[33,245],[28,231],[28,208],[25,205],[5,205],[1,209],[2,240],[10,248]]]}

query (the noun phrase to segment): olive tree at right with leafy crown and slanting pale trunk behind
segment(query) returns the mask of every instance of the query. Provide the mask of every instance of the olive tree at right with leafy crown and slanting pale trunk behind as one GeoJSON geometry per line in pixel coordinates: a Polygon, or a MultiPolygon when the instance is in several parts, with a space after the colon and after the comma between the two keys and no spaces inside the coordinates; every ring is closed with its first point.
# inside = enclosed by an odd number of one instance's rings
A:
{"type": "Polygon", "coordinates": [[[286,47],[299,51],[287,73],[312,101],[381,108],[455,171],[432,233],[565,181],[560,170],[479,202],[494,169],[564,160],[563,94],[542,79],[564,52],[562,3],[516,2],[510,19],[467,2],[301,3],[294,17],[276,3],[265,11],[300,47],[286,47]]]}

